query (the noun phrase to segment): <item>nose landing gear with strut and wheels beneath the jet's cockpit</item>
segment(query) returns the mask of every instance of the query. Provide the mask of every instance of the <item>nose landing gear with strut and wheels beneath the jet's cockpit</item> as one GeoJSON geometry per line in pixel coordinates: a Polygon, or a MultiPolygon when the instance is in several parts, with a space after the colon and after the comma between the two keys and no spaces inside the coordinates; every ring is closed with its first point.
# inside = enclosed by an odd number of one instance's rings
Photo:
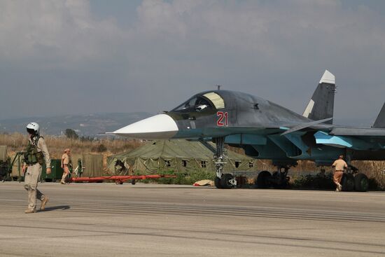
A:
{"type": "Polygon", "coordinates": [[[230,189],[237,186],[237,180],[230,173],[223,174],[223,169],[227,163],[227,154],[225,153],[225,138],[214,138],[216,144],[216,153],[214,154],[214,164],[216,167],[216,178],[214,183],[216,188],[230,189]]]}

